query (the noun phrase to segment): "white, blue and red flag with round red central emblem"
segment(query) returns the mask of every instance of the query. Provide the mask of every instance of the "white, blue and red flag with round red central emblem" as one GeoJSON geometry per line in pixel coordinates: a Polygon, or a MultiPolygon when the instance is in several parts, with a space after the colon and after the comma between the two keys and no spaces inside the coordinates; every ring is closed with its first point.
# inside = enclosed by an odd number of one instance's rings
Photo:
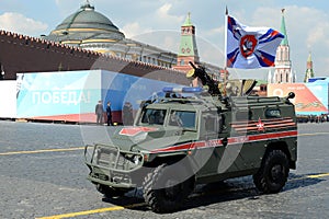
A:
{"type": "Polygon", "coordinates": [[[269,27],[250,27],[227,15],[226,61],[228,68],[273,67],[284,35],[269,27]]]}

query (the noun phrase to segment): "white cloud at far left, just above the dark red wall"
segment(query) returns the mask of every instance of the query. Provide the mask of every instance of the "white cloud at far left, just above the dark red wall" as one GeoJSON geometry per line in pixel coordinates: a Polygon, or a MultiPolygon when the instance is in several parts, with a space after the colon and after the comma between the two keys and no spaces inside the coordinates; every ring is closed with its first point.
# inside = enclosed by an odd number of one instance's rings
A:
{"type": "Polygon", "coordinates": [[[24,35],[38,35],[48,28],[48,25],[26,18],[20,13],[5,12],[0,15],[0,28],[24,35]]]}

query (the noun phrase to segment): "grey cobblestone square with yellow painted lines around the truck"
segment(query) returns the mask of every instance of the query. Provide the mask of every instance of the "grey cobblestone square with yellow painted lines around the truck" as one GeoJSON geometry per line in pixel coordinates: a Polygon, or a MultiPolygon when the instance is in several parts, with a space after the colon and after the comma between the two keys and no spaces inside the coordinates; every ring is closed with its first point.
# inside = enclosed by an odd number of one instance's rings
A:
{"type": "Polygon", "coordinates": [[[107,200],[86,180],[82,147],[106,140],[111,127],[0,120],[0,218],[328,218],[329,124],[298,130],[297,170],[283,192],[259,195],[250,176],[229,180],[197,186],[184,209],[157,215],[139,191],[107,200]]]}

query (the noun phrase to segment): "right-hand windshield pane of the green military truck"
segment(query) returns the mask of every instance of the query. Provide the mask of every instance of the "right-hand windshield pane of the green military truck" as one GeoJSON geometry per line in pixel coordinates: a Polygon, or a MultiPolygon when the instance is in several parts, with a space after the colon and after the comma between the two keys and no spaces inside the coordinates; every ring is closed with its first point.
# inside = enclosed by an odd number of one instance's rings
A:
{"type": "Polygon", "coordinates": [[[170,126],[179,126],[188,129],[195,128],[195,112],[171,111],[169,118],[170,126]]]}

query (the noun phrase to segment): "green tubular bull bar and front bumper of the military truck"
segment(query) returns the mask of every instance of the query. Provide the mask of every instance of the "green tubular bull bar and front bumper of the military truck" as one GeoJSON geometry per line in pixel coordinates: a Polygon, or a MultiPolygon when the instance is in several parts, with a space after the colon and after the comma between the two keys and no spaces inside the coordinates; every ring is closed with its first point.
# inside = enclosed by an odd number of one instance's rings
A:
{"type": "Polygon", "coordinates": [[[86,164],[90,169],[88,180],[118,188],[137,187],[138,172],[144,163],[140,152],[123,151],[107,145],[86,146],[86,164]]]}

